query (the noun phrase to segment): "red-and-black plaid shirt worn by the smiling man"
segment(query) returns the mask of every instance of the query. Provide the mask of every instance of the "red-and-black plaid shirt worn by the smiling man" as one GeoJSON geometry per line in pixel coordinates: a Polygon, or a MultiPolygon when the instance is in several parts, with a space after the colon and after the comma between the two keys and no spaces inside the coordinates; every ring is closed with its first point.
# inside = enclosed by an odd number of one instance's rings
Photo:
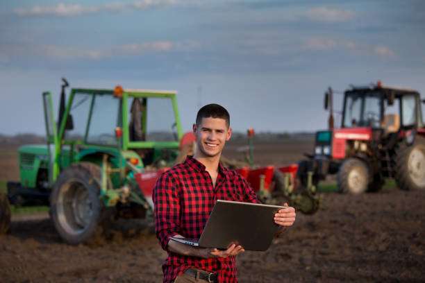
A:
{"type": "MultiPolygon", "coordinates": [[[[219,164],[215,187],[205,166],[188,156],[183,164],[166,171],[153,189],[156,236],[167,250],[169,237],[199,239],[217,199],[260,203],[247,180],[219,164]]],[[[238,282],[235,257],[203,259],[168,252],[163,264],[164,282],[186,269],[199,268],[217,273],[218,282],[238,282]]]]}

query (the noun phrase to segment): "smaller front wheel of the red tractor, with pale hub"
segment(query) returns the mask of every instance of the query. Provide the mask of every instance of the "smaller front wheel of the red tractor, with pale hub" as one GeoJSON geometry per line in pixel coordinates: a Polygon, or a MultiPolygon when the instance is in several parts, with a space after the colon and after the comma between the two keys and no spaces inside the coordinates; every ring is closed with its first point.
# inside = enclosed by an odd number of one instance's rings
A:
{"type": "Polygon", "coordinates": [[[338,172],[340,193],[362,194],[369,184],[367,164],[357,158],[349,158],[342,163],[338,172]]]}

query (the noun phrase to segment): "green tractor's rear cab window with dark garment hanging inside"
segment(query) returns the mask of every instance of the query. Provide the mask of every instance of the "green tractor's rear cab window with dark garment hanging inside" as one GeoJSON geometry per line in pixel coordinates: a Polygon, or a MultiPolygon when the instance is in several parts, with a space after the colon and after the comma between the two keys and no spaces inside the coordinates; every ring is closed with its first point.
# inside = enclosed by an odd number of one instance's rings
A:
{"type": "Polygon", "coordinates": [[[128,97],[130,141],[178,141],[172,99],[128,97]]]}

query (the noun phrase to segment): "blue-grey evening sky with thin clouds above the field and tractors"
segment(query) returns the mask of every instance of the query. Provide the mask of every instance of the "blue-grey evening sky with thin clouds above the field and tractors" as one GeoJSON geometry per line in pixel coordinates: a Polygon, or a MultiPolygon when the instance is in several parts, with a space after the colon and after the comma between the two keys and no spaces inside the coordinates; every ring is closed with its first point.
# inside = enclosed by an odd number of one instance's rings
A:
{"type": "Polygon", "coordinates": [[[183,131],[219,103],[235,132],[314,132],[328,87],[381,80],[425,98],[424,46],[423,0],[1,1],[0,133],[44,135],[41,94],[58,105],[63,77],[176,90],[183,131]]]}

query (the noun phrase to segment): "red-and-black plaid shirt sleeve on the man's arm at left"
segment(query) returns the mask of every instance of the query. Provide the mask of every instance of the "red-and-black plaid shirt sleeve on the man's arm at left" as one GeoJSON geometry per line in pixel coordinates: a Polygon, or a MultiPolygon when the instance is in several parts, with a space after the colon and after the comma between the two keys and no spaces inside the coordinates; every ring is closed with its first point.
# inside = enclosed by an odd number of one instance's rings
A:
{"type": "Polygon", "coordinates": [[[153,188],[155,205],[155,232],[161,247],[167,250],[169,237],[180,230],[180,204],[178,202],[178,185],[171,174],[163,173],[156,180],[153,188]]]}

